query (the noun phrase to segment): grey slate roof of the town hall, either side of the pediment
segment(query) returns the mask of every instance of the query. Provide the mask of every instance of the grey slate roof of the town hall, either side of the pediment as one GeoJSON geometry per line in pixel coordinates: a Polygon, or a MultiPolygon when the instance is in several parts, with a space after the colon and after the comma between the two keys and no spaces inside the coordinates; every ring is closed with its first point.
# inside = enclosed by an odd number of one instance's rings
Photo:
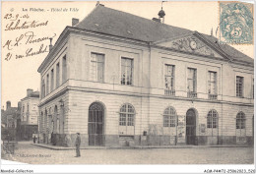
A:
{"type": "MultiPolygon", "coordinates": [[[[141,41],[154,42],[165,38],[177,38],[193,33],[189,29],[182,29],[161,24],[159,22],[135,16],[129,13],[97,5],[95,10],[81,21],[75,28],[87,29],[105,34],[111,34],[141,41]]],[[[219,47],[231,59],[253,63],[253,59],[227,44],[219,44],[212,35],[201,33],[208,41],[219,47]]]]}

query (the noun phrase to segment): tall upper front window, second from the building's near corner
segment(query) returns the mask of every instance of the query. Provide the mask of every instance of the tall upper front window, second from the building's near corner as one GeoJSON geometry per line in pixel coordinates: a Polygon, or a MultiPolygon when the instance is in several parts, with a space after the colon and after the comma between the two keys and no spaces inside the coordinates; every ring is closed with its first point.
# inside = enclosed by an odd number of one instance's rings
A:
{"type": "Polygon", "coordinates": [[[133,84],[133,59],[121,58],[121,85],[133,84]]]}

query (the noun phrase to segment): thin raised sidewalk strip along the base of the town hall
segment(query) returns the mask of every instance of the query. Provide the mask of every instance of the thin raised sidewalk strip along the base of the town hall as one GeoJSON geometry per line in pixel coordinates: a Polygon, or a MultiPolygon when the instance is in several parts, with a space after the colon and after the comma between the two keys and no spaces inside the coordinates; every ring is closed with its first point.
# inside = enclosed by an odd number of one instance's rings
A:
{"type": "MultiPolygon", "coordinates": [[[[70,150],[76,149],[76,147],[65,147],[56,145],[45,145],[45,144],[31,144],[35,146],[40,146],[44,148],[50,148],[55,150],[70,150]]],[[[148,145],[148,146],[86,146],[80,149],[145,149],[145,148],[209,148],[209,147],[250,147],[253,145],[148,145]]]]}

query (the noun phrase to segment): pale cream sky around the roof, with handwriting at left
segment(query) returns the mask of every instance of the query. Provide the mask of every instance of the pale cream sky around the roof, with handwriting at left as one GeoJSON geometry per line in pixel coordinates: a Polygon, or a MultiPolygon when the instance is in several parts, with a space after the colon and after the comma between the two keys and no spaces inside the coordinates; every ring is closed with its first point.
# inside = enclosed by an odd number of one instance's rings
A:
{"type": "MultiPolygon", "coordinates": [[[[101,1],[100,4],[146,19],[158,17],[161,7],[161,2],[101,1]]],[[[66,26],[72,25],[72,18],[82,21],[95,7],[96,2],[2,2],[2,108],[3,105],[4,108],[6,107],[8,100],[12,102],[13,107],[17,107],[18,101],[26,97],[27,88],[39,90],[40,75],[37,73],[37,69],[47,52],[28,57],[26,57],[26,52],[28,53],[30,49],[32,49],[31,52],[38,51],[41,44],[44,48],[49,44],[47,37],[53,35],[55,35],[53,37],[54,44],[62,30],[66,26]],[[41,26],[31,29],[5,30],[10,27],[12,22],[14,27],[18,20],[20,20],[20,26],[25,22],[32,21],[41,26]],[[29,39],[32,38],[32,35],[33,39],[29,39]],[[41,38],[42,41],[32,41],[35,38],[41,38]],[[16,44],[17,42],[18,44],[16,44]],[[10,60],[7,61],[6,58],[10,58],[10,60]]],[[[214,29],[215,33],[218,28],[218,2],[164,2],[163,10],[166,14],[164,23],[170,26],[197,30],[207,34],[211,34],[211,29],[214,29]]],[[[254,57],[253,45],[232,46],[244,54],[254,57]]]]}

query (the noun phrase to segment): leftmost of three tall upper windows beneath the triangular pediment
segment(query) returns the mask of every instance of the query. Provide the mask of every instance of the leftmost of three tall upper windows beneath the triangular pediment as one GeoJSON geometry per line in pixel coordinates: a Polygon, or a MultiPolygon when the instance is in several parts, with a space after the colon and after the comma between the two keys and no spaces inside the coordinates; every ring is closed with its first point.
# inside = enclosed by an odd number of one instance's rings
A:
{"type": "Polygon", "coordinates": [[[165,89],[174,90],[174,65],[164,66],[165,89]]]}

